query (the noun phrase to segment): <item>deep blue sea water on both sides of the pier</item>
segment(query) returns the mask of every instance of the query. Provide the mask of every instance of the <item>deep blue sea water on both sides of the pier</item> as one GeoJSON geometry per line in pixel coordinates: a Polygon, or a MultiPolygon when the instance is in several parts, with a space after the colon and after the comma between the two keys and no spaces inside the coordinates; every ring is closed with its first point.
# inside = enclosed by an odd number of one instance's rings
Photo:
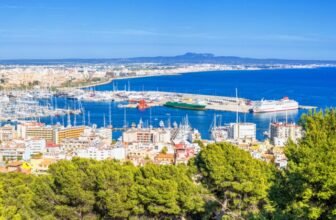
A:
{"type": "MultiPolygon", "coordinates": [[[[120,90],[130,85],[131,90],[137,91],[159,90],[223,96],[235,96],[235,88],[237,88],[239,97],[251,100],[280,99],[288,96],[297,100],[300,105],[317,106],[323,109],[336,106],[336,68],[197,72],[115,80],[112,83],[97,86],[95,89],[99,91],[112,90],[113,83],[120,90]]],[[[58,102],[59,106],[69,105],[69,101],[66,102],[63,99],[59,99],[58,102]]],[[[112,122],[113,126],[122,127],[124,109],[118,108],[117,105],[118,103],[112,104],[112,122]]],[[[104,114],[106,122],[108,122],[108,103],[84,102],[83,106],[87,112],[90,112],[91,123],[102,126],[104,114]]],[[[138,122],[140,118],[154,126],[157,126],[160,120],[167,122],[168,119],[179,123],[182,117],[188,115],[191,125],[201,132],[203,138],[209,138],[209,128],[215,113],[222,115],[223,123],[235,121],[235,113],[213,110],[193,111],[154,107],[145,111],[137,109],[127,109],[126,111],[129,125],[132,122],[138,122]],[[150,119],[151,122],[149,122],[150,119]]],[[[288,112],[288,120],[297,122],[305,112],[307,111],[288,112]]],[[[49,121],[49,119],[45,120],[49,121]]],[[[257,138],[263,139],[263,132],[268,130],[270,121],[285,120],[285,114],[239,114],[239,120],[256,123],[257,138]]],[[[81,121],[81,117],[78,116],[77,124],[80,124],[81,121]]],[[[87,121],[88,119],[86,119],[87,121]]],[[[120,133],[114,133],[114,138],[118,138],[118,136],[120,133]]]]}

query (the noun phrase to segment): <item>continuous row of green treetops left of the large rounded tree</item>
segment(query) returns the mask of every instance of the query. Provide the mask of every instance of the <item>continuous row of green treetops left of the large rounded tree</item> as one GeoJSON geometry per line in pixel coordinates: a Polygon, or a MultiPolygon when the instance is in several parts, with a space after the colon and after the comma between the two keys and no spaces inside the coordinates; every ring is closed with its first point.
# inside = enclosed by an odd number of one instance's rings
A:
{"type": "Polygon", "coordinates": [[[75,158],[49,175],[1,174],[0,219],[188,217],[204,206],[188,169],[75,158]]]}

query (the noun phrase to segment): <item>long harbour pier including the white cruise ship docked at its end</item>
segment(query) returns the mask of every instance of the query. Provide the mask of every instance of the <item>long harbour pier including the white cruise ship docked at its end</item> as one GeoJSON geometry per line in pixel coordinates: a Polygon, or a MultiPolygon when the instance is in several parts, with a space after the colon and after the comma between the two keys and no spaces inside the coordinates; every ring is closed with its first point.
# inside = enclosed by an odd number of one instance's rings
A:
{"type": "Polygon", "coordinates": [[[68,99],[86,102],[120,102],[120,108],[145,110],[156,106],[189,110],[216,110],[239,113],[267,113],[295,109],[314,109],[283,97],[280,100],[255,101],[247,98],[163,91],[95,91],[71,89],[58,93],[68,99]]]}

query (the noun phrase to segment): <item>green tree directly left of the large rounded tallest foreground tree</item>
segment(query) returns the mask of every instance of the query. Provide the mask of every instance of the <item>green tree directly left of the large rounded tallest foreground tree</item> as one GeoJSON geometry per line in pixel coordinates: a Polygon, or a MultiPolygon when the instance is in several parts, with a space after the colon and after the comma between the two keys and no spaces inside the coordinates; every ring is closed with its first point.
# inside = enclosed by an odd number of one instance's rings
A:
{"type": "Polygon", "coordinates": [[[203,211],[200,186],[187,167],[147,164],[136,175],[137,195],[147,217],[174,218],[203,211]]]}

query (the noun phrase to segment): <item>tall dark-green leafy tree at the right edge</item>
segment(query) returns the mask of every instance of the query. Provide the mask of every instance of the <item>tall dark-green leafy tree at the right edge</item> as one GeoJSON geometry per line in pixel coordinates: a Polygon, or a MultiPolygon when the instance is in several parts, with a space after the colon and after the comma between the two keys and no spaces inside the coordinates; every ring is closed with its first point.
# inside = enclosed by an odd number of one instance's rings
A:
{"type": "Polygon", "coordinates": [[[272,199],[283,218],[336,218],[336,112],[310,112],[300,124],[304,137],[285,149],[288,168],[279,175],[272,199]]]}

